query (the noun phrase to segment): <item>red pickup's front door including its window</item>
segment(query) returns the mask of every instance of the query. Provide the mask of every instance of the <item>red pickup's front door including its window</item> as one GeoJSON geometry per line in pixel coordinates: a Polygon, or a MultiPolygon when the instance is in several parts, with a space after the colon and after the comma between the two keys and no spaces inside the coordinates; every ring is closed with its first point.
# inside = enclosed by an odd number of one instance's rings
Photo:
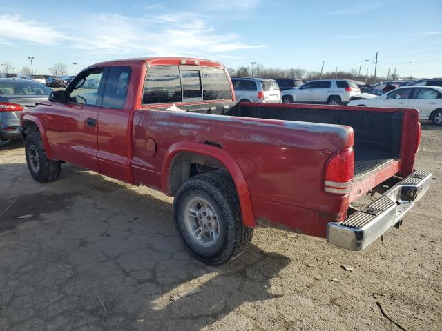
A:
{"type": "Polygon", "coordinates": [[[97,118],[103,86],[103,68],[90,68],[68,86],[66,102],[46,110],[45,132],[56,159],[99,172],[97,118]]]}

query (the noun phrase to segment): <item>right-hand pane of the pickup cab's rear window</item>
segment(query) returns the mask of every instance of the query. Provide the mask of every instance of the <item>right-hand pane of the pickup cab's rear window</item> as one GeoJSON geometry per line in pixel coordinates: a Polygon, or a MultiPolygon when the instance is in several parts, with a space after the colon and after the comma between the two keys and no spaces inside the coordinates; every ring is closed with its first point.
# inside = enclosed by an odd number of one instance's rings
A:
{"type": "Polygon", "coordinates": [[[202,69],[202,99],[232,99],[232,91],[226,73],[221,68],[202,69]]]}

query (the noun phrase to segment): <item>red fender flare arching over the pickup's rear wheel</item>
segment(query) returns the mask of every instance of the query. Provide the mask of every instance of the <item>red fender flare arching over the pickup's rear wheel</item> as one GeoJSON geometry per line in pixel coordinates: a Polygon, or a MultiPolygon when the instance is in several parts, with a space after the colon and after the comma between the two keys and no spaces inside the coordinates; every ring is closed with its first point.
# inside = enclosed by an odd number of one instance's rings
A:
{"type": "Polygon", "coordinates": [[[242,174],[240,166],[238,165],[238,163],[236,163],[233,157],[231,157],[230,154],[218,147],[191,142],[173,144],[169,148],[169,150],[167,150],[162,165],[163,192],[167,192],[168,194],[170,193],[167,183],[170,177],[171,165],[173,163],[173,159],[177,156],[177,154],[180,154],[181,152],[193,152],[195,154],[202,154],[208,157],[213,157],[214,159],[220,161],[226,167],[233,179],[233,183],[235,183],[236,192],[238,193],[238,198],[240,199],[242,223],[250,228],[255,228],[256,223],[253,217],[249,188],[247,188],[244,174],[242,174]]]}

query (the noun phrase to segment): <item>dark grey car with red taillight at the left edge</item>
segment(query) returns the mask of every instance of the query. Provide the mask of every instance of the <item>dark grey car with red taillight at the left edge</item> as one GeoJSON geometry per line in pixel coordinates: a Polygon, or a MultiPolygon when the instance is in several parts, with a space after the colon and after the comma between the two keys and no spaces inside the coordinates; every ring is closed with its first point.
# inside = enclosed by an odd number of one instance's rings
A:
{"type": "Polygon", "coordinates": [[[20,112],[47,101],[52,89],[37,81],[0,78],[0,146],[20,137],[20,112]]]}

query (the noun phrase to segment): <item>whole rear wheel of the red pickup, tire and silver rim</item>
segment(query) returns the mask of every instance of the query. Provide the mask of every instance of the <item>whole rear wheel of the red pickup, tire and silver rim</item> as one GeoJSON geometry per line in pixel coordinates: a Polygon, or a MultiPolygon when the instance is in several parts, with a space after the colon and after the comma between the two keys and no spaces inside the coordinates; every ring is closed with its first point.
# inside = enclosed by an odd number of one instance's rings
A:
{"type": "Polygon", "coordinates": [[[218,173],[186,181],[175,196],[173,217],[184,245],[209,265],[238,257],[253,235],[252,228],[242,225],[235,186],[218,173]]]}

